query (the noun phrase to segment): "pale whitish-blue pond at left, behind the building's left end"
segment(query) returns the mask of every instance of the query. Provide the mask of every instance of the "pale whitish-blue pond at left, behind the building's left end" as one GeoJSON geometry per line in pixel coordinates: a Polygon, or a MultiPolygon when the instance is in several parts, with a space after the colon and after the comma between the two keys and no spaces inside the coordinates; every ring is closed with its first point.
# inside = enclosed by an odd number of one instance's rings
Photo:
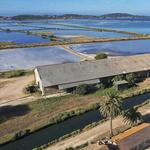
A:
{"type": "Polygon", "coordinates": [[[0,50],[0,70],[28,69],[38,65],[79,61],[57,46],[0,50]]]}

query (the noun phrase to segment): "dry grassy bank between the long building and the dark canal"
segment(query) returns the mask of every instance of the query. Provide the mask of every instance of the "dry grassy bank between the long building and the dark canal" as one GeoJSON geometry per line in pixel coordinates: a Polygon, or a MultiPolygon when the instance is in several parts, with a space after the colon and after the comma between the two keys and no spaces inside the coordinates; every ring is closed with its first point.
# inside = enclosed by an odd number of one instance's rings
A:
{"type": "MultiPolygon", "coordinates": [[[[120,94],[124,98],[133,97],[150,90],[133,88],[131,91],[126,90],[120,94]]],[[[103,99],[103,91],[98,91],[86,96],[68,95],[3,108],[0,115],[0,143],[16,140],[41,128],[97,109],[99,101],[103,99]]]]}

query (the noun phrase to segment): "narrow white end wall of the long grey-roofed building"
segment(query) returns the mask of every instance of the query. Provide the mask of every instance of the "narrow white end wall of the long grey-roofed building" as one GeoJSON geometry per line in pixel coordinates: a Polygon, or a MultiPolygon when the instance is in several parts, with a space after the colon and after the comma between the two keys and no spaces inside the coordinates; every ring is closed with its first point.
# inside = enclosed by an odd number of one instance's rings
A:
{"type": "Polygon", "coordinates": [[[45,91],[44,91],[44,88],[43,88],[43,86],[42,86],[42,81],[41,81],[41,79],[40,79],[38,70],[35,69],[35,70],[34,70],[34,73],[35,73],[35,81],[36,81],[36,84],[37,84],[38,87],[40,88],[40,90],[41,90],[41,92],[42,92],[42,95],[45,95],[45,91]]]}

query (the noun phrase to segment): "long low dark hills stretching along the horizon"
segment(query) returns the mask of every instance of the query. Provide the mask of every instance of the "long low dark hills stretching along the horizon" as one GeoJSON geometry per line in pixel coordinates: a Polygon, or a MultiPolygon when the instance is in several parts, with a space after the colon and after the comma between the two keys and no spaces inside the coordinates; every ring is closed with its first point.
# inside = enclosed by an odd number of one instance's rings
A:
{"type": "Polygon", "coordinates": [[[150,16],[131,15],[128,13],[111,13],[101,16],[94,15],[79,15],[79,14],[64,14],[64,15],[18,15],[13,17],[2,17],[3,19],[12,20],[42,20],[42,19],[147,19],[150,16]]]}

